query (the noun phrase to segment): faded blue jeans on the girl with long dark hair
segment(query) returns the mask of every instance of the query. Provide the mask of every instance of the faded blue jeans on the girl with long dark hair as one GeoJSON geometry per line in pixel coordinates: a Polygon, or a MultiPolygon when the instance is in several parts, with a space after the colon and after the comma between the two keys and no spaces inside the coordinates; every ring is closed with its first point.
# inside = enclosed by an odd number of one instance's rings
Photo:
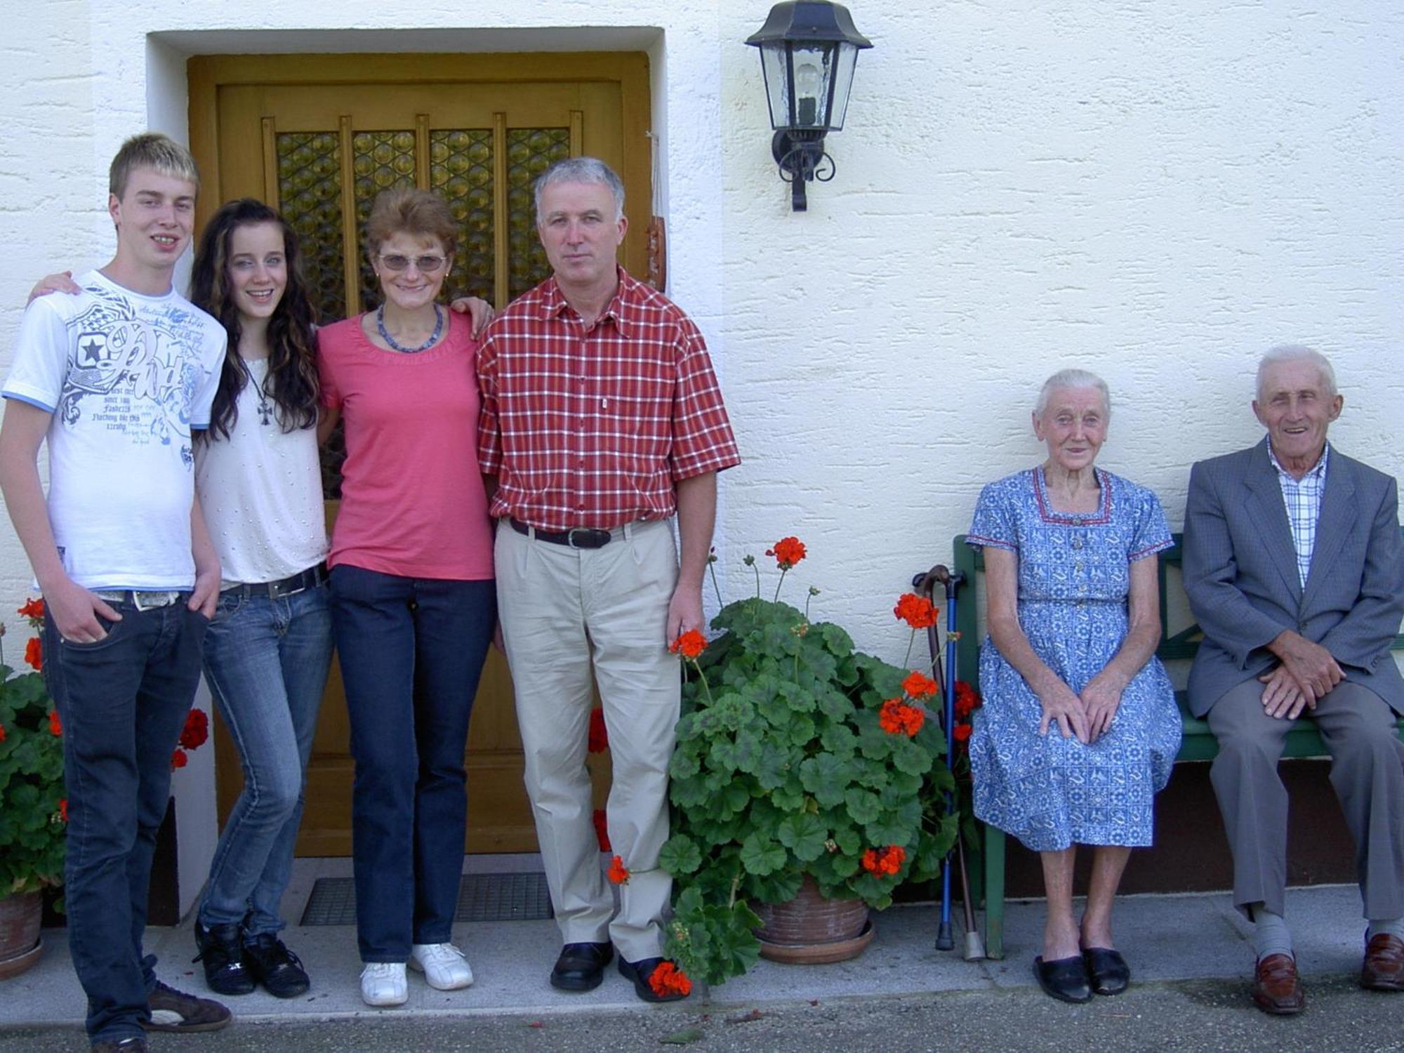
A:
{"type": "Polygon", "coordinates": [[[205,925],[246,922],[250,936],[282,928],[307,757],[331,664],[326,585],[288,597],[219,598],[205,636],[205,678],[234,740],[244,789],[209,866],[205,925]]]}

